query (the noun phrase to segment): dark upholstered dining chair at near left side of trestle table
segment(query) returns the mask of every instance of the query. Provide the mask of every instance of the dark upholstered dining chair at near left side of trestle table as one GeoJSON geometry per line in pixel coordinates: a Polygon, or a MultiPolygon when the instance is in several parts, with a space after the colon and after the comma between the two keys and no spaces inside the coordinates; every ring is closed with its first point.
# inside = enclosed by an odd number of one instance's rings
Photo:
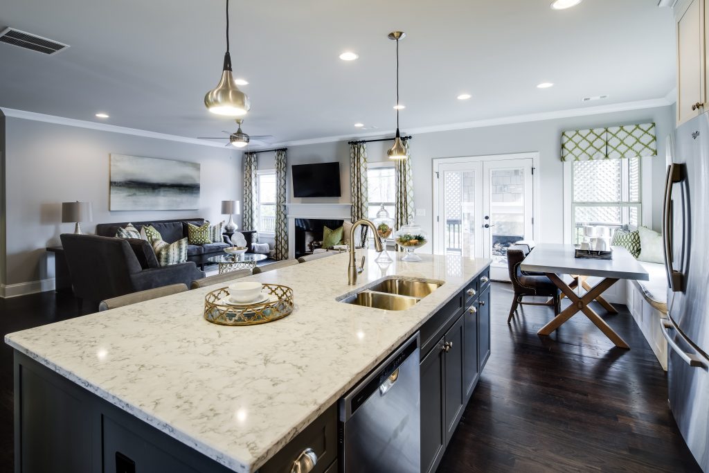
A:
{"type": "Polygon", "coordinates": [[[559,302],[561,301],[562,291],[549,279],[546,275],[540,273],[526,273],[520,269],[520,265],[524,261],[528,252],[523,249],[515,249],[513,247],[507,250],[507,266],[510,272],[510,281],[512,282],[515,294],[510,308],[510,315],[507,318],[507,323],[512,321],[518,306],[552,306],[554,308],[554,316],[559,313],[559,302]],[[525,302],[523,298],[527,297],[551,297],[547,302],[525,302]]]}

